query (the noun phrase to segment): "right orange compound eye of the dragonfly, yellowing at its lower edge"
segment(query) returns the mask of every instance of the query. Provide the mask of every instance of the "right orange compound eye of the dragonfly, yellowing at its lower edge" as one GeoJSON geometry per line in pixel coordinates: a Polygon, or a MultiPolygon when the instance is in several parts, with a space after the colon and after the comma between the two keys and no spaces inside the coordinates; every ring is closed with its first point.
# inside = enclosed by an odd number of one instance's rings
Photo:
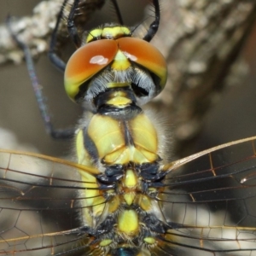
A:
{"type": "Polygon", "coordinates": [[[119,38],[119,49],[126,57],[154,73],[160,79],[161,90],[167,79],[167,67],[164,56],[152,44],[139,38],[119,38]]]}

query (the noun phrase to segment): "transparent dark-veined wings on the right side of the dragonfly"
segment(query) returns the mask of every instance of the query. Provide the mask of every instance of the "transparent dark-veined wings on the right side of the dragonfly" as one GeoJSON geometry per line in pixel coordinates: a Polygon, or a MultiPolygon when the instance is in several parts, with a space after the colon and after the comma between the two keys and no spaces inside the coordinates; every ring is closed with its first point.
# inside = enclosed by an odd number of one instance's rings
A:
{"type": "Polygon", "coordinates": [[[159,255],[256,255],[255,137],[166,168],[157,200],[172,228],[159,255]]]}

